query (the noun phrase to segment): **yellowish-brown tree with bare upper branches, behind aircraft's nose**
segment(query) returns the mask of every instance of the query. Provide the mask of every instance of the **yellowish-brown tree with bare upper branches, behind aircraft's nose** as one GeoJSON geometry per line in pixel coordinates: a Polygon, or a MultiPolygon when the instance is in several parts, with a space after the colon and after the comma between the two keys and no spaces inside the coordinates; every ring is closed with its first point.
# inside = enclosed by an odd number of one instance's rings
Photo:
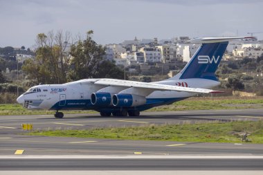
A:
{"type": "Polygon", "coordinates": [[[66,54],[66,44],[70,34],[59,30],[47,35],[37,35],[37,50],[35,60],[26,60],[23,71],[30,79],[44,84],[61,84],[66,82],[66,73],[69,68],[69,56],[66,54]],[[66,44],[65,44],[66,43],[66,44]]]}

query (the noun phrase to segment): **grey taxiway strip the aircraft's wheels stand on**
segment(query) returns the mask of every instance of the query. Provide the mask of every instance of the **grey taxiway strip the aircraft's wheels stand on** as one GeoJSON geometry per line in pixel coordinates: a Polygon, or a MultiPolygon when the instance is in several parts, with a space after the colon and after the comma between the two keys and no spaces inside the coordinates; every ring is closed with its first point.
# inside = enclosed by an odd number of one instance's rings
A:
{"type": "Polygon", "coordinates": [[[21,124],[33,124],[34,129],[91,129],[138,125],[183,124],[207,121],[260,120],[263,109],[230,109],[199,111],[143,112],[139,117],[101,117],[98,113],[53,115],[0,116],[0,134],[21,133],[21,124]]]}

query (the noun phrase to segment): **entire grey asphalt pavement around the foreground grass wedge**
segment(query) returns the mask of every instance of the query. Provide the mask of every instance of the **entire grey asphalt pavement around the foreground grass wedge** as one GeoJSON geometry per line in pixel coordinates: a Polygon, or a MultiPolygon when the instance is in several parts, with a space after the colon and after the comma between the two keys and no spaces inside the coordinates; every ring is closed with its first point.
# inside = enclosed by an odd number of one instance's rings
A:
{"type": "Polygon", "coordinates": [[[63,138],[25,136],[22,123],[33,124],[34,129],[90,129],[96,127],[126,127],[136,125],[183,124],[207,121],[260,120],[263,109],[145,112],[140,117],[100,117],[98,114],[65,115],[62,119],[51,115],[0,116],[0,169],[3,170],[263,170],[263,159],[240,158],[144,158],[143,156],[178,155],[233,155],[262,156],[263,145],[201,142],[161,142],[143,140],[109,140],[92,138],[63,138]],[[21,155],[14,155],[21,150],[21,155]],[[25,158],[2,156],[30,155],[136,155],[138,159],[89,158],[25,158]]]}

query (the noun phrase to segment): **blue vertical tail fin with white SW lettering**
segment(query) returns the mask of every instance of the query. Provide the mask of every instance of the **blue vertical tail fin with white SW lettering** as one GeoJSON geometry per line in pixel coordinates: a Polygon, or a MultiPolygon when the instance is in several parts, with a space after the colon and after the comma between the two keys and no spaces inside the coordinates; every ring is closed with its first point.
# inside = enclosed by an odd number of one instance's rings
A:
{"type": "Polygon", "coordinates": [[[202,44],[183,71],[179,73],[181,74],[179,79],[204,78],[217,81],[215,71],[217,71],[226,46],[228,42],[202,44]]]}

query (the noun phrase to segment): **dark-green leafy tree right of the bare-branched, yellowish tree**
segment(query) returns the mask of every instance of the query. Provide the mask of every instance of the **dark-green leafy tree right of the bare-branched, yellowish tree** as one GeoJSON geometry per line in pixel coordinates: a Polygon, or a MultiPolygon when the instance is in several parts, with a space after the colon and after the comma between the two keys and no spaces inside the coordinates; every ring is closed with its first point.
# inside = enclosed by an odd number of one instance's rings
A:
{"type": "Polygon", "coordinates": [[[105,55],[105,47],[96,44],[91,35],[93,30],[87,33],[87,39],[79,41],[71,46],[71,65],[73,70],[69,73],[71,80],[98,77],[100,64],[105,55]]]}

